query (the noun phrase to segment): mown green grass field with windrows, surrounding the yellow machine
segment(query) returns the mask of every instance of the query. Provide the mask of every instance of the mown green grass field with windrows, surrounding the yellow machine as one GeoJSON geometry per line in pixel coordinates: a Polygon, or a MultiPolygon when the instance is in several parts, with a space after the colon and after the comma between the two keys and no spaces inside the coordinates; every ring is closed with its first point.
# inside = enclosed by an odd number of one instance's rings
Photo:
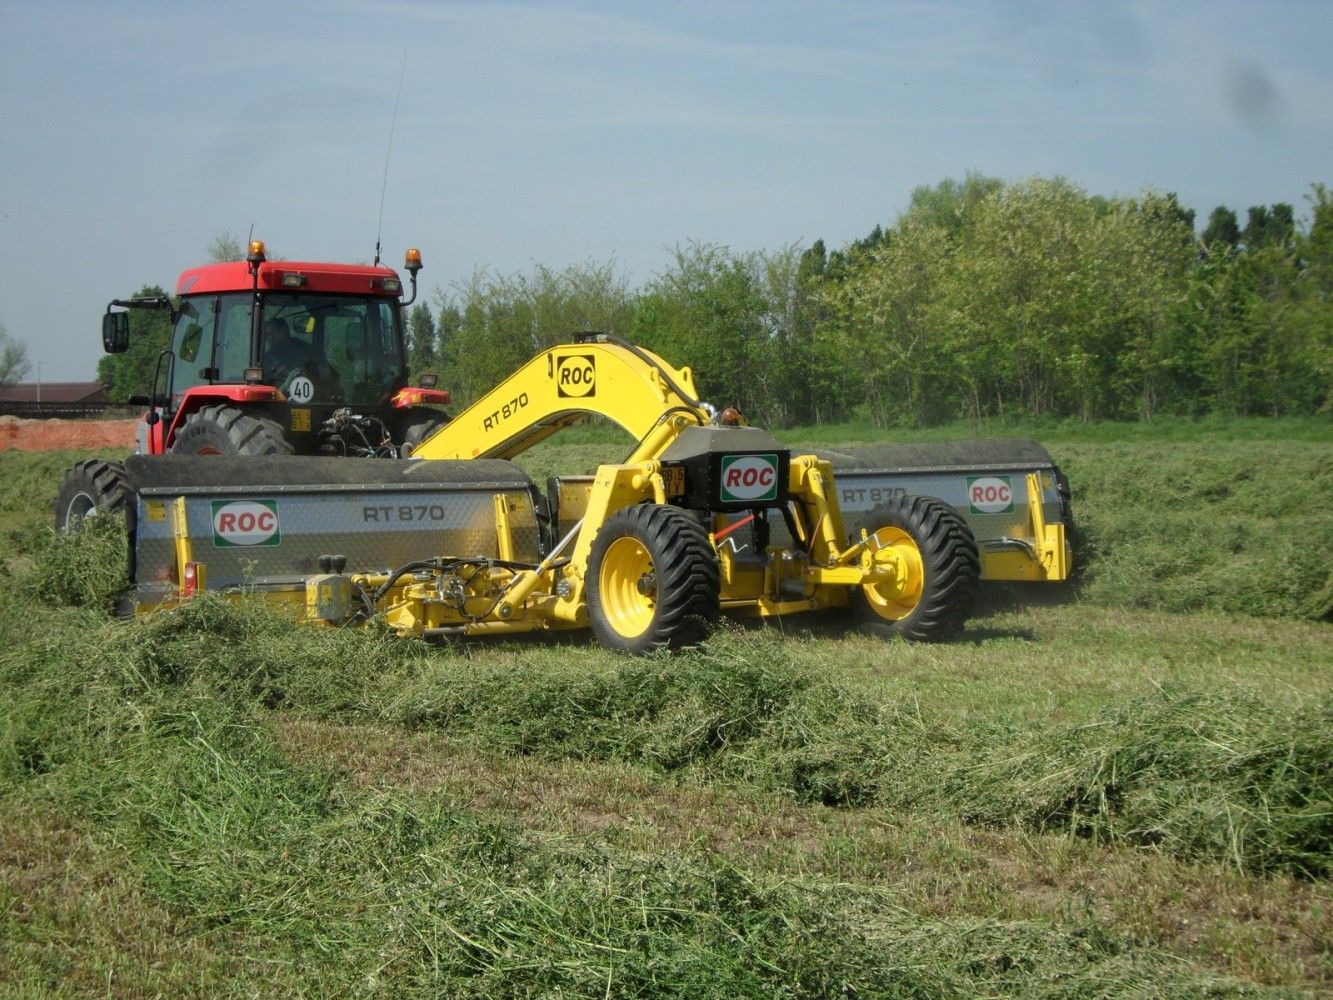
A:
{"type": "Polygon", "coordinates": [[[648,660],[117,623],[113,525],[45,532],[73,456],[0,453],[0,993],[1328,993],[1328,423],[1032,436],[1077,588],[648,660]]]}

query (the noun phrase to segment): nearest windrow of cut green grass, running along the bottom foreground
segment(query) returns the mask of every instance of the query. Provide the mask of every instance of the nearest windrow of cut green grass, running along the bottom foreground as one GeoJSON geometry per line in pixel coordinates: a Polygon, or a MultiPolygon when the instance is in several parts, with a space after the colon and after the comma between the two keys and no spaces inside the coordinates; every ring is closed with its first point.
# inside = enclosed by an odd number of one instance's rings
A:
{"type": "MultiPolygon", "coordinates": [[[[1069,927],[929,919],[872,887],[537,837],[429,795],[348,792],[288,761],[255,701],[220,697],[205,672],[160,669],[167,648],[125,668],[89,657],[81,689],[65,692],[73,704],[53,707],[64,752],[9,779],[27,801],[105,831],[155,897],[243,945],[243,968],[279,992],[1270,992],[1130,948],[1090,915],[1069,927]]],[[[49,965],[11,972],[57,985],[49,965]]]]}

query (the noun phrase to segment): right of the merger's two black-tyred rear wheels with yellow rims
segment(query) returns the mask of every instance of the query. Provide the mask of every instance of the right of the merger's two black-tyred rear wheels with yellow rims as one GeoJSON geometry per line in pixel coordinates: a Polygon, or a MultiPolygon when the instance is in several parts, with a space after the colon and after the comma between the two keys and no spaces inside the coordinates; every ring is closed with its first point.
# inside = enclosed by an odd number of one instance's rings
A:
{"type": "MultiPolygon", "coordinates": [[[[880,504],[858,525],[874,539],[876,560],[898,565],[896,580],[852,591],[861,628],[885,639],[948,639],[962,628],[977,599],[981,560],[958,513],[930,496],[880,504]]],[[[860,531],[852,540],[858,541],[860,531]]]]}

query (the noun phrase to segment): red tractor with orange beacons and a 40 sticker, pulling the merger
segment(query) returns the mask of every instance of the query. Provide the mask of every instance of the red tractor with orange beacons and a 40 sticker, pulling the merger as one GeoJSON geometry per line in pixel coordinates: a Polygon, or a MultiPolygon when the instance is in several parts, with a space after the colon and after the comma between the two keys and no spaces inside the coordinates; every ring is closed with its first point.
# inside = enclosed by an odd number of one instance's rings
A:
{"type": "MultiPolygon", "coordinates": [[[[408,385],[404,307],[416,300],[421,253],[407,252],[412,297],[392,268],[268,260],[249,244],[245,260],[181,273],[176,299],[115,300],[103,316],[103,345],[129,347],[129,313],[171,313],[139,425],[140,455],[411,455],[448,420],[449,393],[435,376],[408,385]]],[[[65,473],[56,525],[67,528],[123,500],[117,463],[84,461],[65,473]]]]}

